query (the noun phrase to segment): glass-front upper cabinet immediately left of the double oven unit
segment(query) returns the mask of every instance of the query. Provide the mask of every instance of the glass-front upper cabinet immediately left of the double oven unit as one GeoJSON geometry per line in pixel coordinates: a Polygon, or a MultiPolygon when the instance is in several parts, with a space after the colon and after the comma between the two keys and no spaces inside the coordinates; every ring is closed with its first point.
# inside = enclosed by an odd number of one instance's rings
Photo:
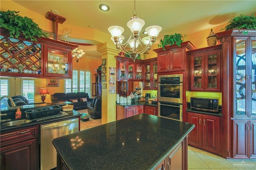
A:
{"type": "Polygon", "coordinates": [[[143,89],[157,90],[157,58],[146,59],[143,61],[144,78],[143,89]]]}

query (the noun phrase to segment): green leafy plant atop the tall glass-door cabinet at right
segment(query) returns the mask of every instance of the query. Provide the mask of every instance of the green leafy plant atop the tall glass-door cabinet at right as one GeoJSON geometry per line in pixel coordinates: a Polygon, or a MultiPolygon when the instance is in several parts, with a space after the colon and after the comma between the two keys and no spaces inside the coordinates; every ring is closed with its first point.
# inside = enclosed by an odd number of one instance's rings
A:
{"type": "MultiPolygon", "coordinates": [[[[244,14],[241,14],[240,16],[236,16],[232,18],[228,25],[225,28],[222,28],[222,30],[232,30],[232,29],[246,29],[246,30],[256,30],[256,17],[252,16],[246,16],[244,14]]],[[[248,31],[243,30],[243,34],[248,34],[248,31]]]]}

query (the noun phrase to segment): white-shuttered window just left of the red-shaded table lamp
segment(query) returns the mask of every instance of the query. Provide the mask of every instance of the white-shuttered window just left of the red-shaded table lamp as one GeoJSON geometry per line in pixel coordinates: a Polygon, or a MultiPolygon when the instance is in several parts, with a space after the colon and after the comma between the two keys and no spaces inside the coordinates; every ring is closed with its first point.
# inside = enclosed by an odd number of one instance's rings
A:
{"type": "Polygon", "coordinates": [[[22,96],[26,97],[28,99],[29,103],[35,103],[34,102],[34,96],[35,95],[35,81],[34,80],[22,80],[22,96]]]}

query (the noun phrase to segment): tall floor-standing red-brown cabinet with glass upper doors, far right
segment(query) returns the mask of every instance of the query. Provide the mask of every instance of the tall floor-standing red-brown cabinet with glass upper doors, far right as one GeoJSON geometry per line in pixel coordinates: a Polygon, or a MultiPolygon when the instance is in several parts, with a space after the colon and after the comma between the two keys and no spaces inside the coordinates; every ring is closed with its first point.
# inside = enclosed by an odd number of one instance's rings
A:
{"type": "Polygon", "coordinates": [[[222,43],[223,157],[256,158],[256,30],[216,36],[222,43]]]}

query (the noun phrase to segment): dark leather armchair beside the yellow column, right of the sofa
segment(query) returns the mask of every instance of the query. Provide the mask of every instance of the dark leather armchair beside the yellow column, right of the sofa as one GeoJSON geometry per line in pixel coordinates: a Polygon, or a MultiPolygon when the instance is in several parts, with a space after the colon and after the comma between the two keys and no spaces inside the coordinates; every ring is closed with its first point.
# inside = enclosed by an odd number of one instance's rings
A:
{"type": "Polygon", "coordinates": [[[101,118],[101,96],[94,97],[92,102],[87,102],[87,110],[90,117],[101,118]]]}

